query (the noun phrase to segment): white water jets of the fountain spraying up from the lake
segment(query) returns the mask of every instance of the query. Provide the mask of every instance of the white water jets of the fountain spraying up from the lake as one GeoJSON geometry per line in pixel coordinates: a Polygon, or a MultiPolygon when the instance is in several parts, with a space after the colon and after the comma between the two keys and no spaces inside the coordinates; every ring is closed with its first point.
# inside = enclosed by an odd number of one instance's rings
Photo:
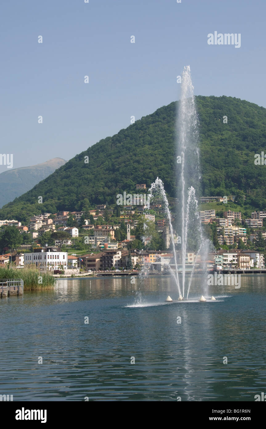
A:
{"type": "MultiPolygon", "coordinates": [[[[164,185],[158,177],[151,184],[149,189],[149,202],[153,197],[161,195],[164,201],[164,207],[167,215],[167,221],[170,227],[170,235],[173,245],[173,256],[175,263],[174,278],[179,294],[179,300],[185,298],[185,258],[188,251],[193,252],[196,257],[191,266],[191,274],[188,280],[186,290],[186,298],[188,299],[191,281],[198,259],[206,261],[209,253],[209,240],[204,238],[200,216],[198,213],[198,202],[196,195],[200,192],[200,151],[198,145],[198,118],[194,97],[194,87],[191,81],[190,67],[186,66],[182,73],[181,99],[179,101],[179,111],[176,122],[176,155],[181,163],[177,171],[177,177],[180,178],[177,186],[177,199],[181,210],[179,211],[178,229],[181,230],[181,256],[182,256],[182,279],[179,281],[179,270],[177,263],[176,247],[174,244],[174,230],[169,210],[167,196],[164,190],[164,185]]],[[[149,202],[147,208],[149,208],[149,202]]],[[[202,267],[202,271],[206,272],[206,264],[202,267]]],[[[180,273],[181,274],[181,273],[180,273]]],[[[202,287],[203,293],[206,294],[206,287],[202,287]]],[[[206,301],[202,295],[201,302],[206,301]]]]}

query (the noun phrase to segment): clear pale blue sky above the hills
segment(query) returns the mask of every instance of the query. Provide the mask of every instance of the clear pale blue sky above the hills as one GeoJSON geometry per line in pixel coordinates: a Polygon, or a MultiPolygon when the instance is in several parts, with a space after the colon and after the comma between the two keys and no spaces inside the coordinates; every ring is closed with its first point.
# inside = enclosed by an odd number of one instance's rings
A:
{"type": "Polygon", "coordinates": [[[13,168],[69,160],[178,100],[188,64],[195,94],[266,107],[265,12],[265,0],[2,0],[0,153],[13,168]],[[241,33],[241,48],[208,45],[215,31],[241,33]]]}

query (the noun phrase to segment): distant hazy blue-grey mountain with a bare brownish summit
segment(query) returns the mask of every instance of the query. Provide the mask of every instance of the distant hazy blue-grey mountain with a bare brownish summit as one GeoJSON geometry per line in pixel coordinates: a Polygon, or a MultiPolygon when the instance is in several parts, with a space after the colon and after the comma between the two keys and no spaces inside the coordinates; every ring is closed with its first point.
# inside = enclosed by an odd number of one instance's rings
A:
{"type": "Polygon", "coordinates": [[[65,163],[66,160],[62,158],[53,158],[41,164],[2,172],[0,174],[0,207],[30,190],[65,163]]]}

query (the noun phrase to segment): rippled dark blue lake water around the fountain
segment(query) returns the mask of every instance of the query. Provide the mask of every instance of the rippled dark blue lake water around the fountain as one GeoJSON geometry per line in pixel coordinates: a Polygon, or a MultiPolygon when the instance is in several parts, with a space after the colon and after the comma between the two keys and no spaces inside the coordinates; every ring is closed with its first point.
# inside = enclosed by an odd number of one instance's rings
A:
{"type": "Polygon", "coordinates": [[[60,279],[54,290],[1,299],[0,394],[254,401],[266,392],[266,275],[211,287],[213,302],[197,301],[196,284],[190,302],[170,304],[178,293],[168,276],[60,279]],[[145,303],[134,306],[139,287],[145,303]]]}

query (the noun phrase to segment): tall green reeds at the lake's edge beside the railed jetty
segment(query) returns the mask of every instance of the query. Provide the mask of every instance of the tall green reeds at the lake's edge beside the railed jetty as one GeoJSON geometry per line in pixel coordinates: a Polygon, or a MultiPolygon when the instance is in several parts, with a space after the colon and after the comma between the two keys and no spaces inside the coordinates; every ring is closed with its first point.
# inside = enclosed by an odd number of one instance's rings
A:
{"type": "Polygon", "coordinates": [[[22,278],[24,290],[52,289],[56,279],[49,272],[39,272],[36,267],[0,268],[0,278],[22,278]]]}

